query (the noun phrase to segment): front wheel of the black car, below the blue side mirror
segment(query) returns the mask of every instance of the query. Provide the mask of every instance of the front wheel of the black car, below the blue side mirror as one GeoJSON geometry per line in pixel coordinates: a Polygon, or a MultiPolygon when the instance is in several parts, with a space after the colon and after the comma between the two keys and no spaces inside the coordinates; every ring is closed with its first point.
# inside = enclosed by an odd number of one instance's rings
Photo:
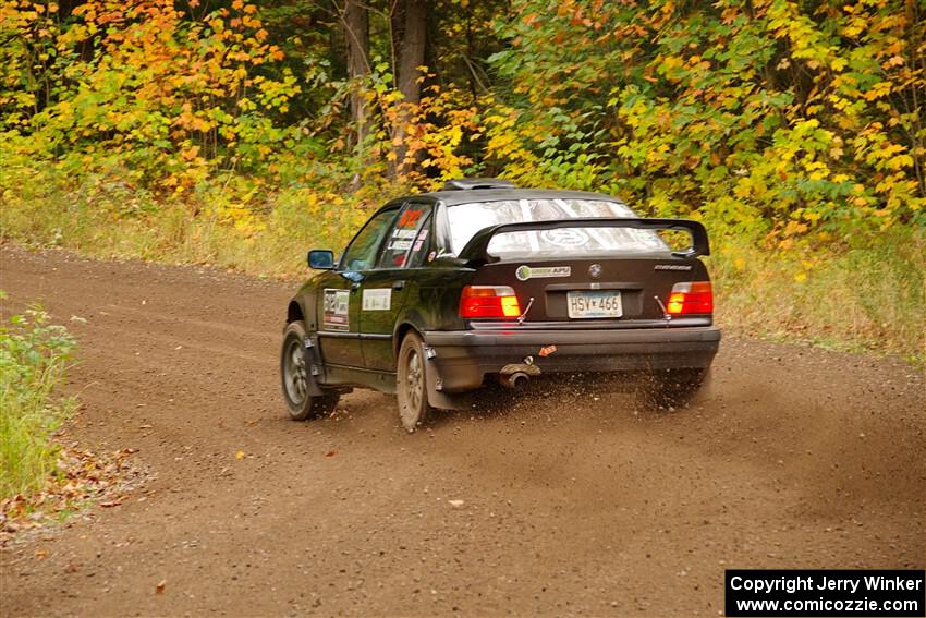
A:
{"type": "Polygon", "coordinates": [[[282,379],[283,399],[293,421],[305,421],[324,414],[330,414],[338,404],[337,392],[326,392],[322,396],[308,393],[309,380],[313,379],[310,367],[305,360],[305,327],[301,322],[287,326],[283,334],[283,348],[280,352],[280,377],[282,379]]]}

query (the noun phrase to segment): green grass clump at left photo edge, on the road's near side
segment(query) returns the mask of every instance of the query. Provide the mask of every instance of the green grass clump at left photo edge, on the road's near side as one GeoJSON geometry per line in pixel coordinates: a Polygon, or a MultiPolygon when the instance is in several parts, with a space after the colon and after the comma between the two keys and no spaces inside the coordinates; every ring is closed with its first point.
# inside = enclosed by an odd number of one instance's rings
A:
{"type": "Polygon", "coordinates": [[[76,403],[59,393],[75,348],[40,307],[0,326],[0,498],[40,490],[54,472],[51,436],[76,403]]]}

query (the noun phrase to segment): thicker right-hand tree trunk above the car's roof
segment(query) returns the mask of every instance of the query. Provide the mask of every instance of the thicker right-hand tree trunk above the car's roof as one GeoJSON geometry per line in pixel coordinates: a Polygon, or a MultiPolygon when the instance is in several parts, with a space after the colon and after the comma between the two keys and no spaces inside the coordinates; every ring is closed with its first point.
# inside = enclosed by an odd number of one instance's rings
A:
{"type": "MultiPolygon", "coordinates": [[[[406,128],[412,121],[410,107],[416,106],[422,100],[421,65],[425,61],[425,45],[427,43],[427,0],[404,0],[401,2],[401,12],[405,19],[402,22],[401,44],[399,48],[399,92],[403,97],[403,111],[399,113],[393,132],[395,144],[395,167],[391,171],[403,171],[407,167],[405,161],[407,147],[405,145],[406,128]]],[[[397,7],[398,8],[398,7],[397,7]]],[[[395,32],[393,29],[393,35],[395,32]]]]}

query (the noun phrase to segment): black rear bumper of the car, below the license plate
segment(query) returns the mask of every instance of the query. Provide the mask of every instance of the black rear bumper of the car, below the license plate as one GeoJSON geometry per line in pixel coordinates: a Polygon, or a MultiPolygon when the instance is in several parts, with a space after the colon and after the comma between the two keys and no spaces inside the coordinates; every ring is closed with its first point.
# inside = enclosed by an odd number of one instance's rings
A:
{"type": "Polygon", "coordinates": [[[526,356],[543,373],[633,372],[706,368],[720,344],[714,326],[633,329],[499,329],[428,331],[425,344],[440,390],[478,388],[486,374],[499,373],[526,356]],[[540,355],[555,346],[556,351],[540,355]]]}

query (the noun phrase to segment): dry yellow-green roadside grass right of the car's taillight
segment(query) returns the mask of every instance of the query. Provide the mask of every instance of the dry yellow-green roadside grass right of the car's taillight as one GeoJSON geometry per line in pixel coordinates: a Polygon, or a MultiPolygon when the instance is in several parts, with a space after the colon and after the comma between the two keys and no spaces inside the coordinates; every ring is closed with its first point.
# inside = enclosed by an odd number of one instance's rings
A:
{"type": "Polygon", "coordinates": [[[926,363],[926,234],[885,233],[866,249],[770,253],[716,243],[718,320],[735,332],[926,363]]]}

